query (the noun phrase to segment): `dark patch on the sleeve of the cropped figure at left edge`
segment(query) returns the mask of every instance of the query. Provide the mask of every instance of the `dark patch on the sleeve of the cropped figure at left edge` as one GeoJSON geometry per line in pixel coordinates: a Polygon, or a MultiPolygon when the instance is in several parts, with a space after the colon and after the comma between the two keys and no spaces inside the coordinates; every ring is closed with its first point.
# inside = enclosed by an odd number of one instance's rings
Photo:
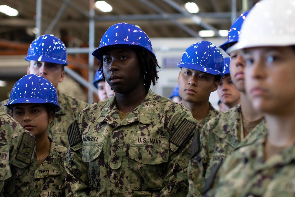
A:
{"type": "Polygon", "coordinates": [[[36,139],[28,133],[22,133],[22,141],[19,144],[16,158],[26,164],[31,163],[34,154],[36,139]]]}

